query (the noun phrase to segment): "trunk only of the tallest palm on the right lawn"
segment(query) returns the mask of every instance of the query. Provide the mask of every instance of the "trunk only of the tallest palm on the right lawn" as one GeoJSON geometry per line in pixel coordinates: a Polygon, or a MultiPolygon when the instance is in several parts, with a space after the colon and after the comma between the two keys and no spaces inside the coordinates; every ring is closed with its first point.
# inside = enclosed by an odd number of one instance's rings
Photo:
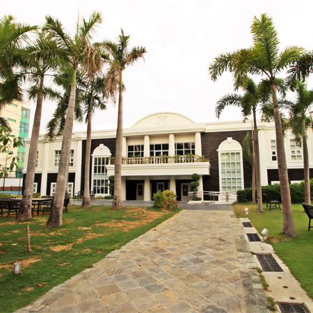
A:
{"type": "Polygon", "coordinates": [[[276,97],[275,83],[271,83],[273,106],[274,106],[274,121],[276,133],[276,147],[278,159],[278,174],[280,177],[280,193],[282,197],[282,233],[296,237],[296,229],[294,227],[294,218],[292,216],[291,195],[289,188],[288,170],[286,162],[286,154],[284,152],[284,137],[282,134],[282,121],[280,119],[280,111],[278,109],[278,101],[276,97]]]}

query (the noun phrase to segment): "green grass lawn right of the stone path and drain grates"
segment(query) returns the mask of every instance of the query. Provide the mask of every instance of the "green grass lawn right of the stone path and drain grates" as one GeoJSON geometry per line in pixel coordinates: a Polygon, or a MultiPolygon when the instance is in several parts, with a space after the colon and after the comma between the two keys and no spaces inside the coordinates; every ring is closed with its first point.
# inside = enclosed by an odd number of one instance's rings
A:
{"type": "MultiPolygon", "coordinates": [[[[266,206],[265,206],[266,207],[266,206]]],[[[275,253],[286,264],[294,277],[300,282],[307,294],[313,298],[313,229],[307,231],[309,218],[301,204],[293,204],[292,211],[296,238],[289,238],[282,234],[282,211],[265,209],[264,213],[257,211],[257,204],[234,203],[237,217],[248,217],[259,233],[266,228],[268,240],[275,253]],[[249,214],[244,209],[248,207],[249,214]]]]}

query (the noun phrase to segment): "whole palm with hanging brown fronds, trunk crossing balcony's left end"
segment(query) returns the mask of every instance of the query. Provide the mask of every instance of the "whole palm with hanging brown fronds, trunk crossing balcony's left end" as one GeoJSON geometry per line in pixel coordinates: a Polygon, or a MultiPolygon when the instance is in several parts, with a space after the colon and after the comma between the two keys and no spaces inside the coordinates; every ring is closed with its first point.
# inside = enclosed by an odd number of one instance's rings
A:
{"type": "Polygon", "coordinates": [[[122,191],[121,191],[121,170],[122,170],[122,137],[123,137],[123,83],[122,72],[128,65],[133,65],[138,59],[143,58],[146,53],[145,47],[133,47],[128,49],[130,35],[125,35],[121,29],[118,36],[118,42],[105,41],[102,47],[107,51],[110,56],[110,68],[106,74],[106,83],[104,91],[107,94],[113,95],[118,91],[118,127],[116,130],[116,143],[115,143],[115,179],[114,179],[114,198],[113,209],[120,209],[123,207],[122,191]]]}

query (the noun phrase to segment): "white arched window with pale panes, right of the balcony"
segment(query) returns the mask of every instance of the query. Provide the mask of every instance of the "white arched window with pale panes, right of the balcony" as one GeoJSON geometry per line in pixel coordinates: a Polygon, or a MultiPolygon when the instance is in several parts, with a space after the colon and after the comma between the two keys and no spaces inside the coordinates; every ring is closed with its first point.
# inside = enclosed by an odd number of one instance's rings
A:
{"type": "Polygon", "coordinates": [[[242,147],[231,137],[218,147],[220,191],[243,189],[242,147]]]}

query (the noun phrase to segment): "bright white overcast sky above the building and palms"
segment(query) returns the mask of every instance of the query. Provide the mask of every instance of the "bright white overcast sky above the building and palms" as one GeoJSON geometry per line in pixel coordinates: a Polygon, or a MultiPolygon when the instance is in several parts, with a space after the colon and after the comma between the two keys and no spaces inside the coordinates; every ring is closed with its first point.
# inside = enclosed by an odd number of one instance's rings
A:
{"type": "MultiPolygon", "coordinates": [[[[1,17],[13,15],[16,22],[42,26],[45,16],[61,20],[74,33],[77,17],[102,13],[95,42],[116,41],[120,29],[131,35],[129,47],[143,46],[145,61],[123,72],[125,84],[124,127],[159,112],[175,112],[195,122],[218,122],[216,102],[233,92],[232,76],[211,81],[210,63],[220,53],[252,45],[252,19],[267,13],[273,17],[280,48],[297,45],[313,49],[312,0],[0,0],[1,17]]],[[[256,80],[257,82],[257,80],[256,80]]],[[[311,86],[311,79],[308,82],[311,86]]],[[[292,99],[293,95],[289,98],[292,99]]],[[[55,105],[45,102],[40,131],[55,105]]],[[[33,104],[33,113],[35,105],[33,104]]],[[[106,111],[93,116],[93,129],[114,129],[118,106],[108,102],[106,111]]],[[[228,107],[220,120],[242,120],[240,109],[228,107]]],[[[83,123],[74,131],[85,130],[83,123]]]]}

